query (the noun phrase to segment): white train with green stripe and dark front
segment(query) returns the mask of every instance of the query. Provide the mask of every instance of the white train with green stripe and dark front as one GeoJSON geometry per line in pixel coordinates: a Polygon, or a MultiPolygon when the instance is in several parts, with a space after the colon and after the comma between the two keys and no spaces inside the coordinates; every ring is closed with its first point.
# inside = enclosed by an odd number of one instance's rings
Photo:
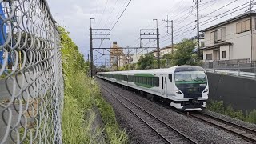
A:
{"type": "Polygon", "coordinates": [[[200,66],[174,66],[166,69],[98,72],[109,82],[151,94],[182,111],[206,108],[209,86],[206,70],[200,66]]]}

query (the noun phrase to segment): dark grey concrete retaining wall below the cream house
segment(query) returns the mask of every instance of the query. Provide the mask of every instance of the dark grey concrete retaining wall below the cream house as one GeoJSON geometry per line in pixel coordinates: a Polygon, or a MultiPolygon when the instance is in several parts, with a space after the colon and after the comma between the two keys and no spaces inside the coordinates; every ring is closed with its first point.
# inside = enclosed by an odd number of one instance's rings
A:
{"type": "Polygon", "coordinates": [[[223,101],[235,110],[256,110],[256,80],[208,73],[209,99],[223,101]]]}

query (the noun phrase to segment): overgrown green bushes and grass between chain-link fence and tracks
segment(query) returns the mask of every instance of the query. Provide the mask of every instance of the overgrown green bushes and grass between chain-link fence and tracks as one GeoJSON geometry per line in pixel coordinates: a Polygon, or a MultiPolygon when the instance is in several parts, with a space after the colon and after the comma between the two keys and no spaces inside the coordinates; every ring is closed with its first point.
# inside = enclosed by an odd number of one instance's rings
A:
{"type": "Polygon", "coordinates": [[[62,27],[62,67],[64,74],[64,107],[62,111],[62,139],[64,143],[127,143],[128,137],[124,130],[120,130],[115,119],[113,108],[100,94],[98,84],[86,76],[90,63],[85,62],[78,51],[78,46],[72,42],[69,33],[62,27]],[[96,114],[94,107],[97,107],[104,129],[92,132],[92,126],[96,114]],[[91,112],[92,111],[92,112],[91,112]],[[102,134],[105,131],[106,134],[102,134]]]}

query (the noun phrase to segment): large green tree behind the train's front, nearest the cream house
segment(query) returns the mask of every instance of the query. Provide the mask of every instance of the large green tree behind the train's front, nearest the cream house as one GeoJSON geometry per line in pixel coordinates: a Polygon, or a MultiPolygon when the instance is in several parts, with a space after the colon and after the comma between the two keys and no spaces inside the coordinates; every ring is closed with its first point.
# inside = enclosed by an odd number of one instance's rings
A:
{"type": "Polygon", "coordinates": [[[174,54],[174,65],[196,65],[198,54],[193,52],[196,43],[193,40],[184,39],[178,43],[174,54]]]}

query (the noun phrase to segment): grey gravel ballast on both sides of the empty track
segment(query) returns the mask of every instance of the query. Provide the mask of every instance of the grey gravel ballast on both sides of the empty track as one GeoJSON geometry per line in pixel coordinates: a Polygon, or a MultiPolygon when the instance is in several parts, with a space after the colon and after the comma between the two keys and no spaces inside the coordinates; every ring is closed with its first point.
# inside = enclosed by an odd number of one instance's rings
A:
{"type": "MultiPolygon", "coordinates": [[[[170,126],[174,126],[177,130],[186,134],[190,138],[194,139],[198,143],[246,143],[226,131],[219,130],[214,126],[207,125],[204,122],[200,122],[194,118],[187,117],[182,114],[178,114],[173,110],[167,109],[163,106],[158,105],[156,102],[151,102],[147,98],[143,98],[138,94],[134,94],[128,90],[123,90],[118,86],[111,85],[110,83],[104,82],[98,79],[98,82],[106,85],[110,90],[114,90],[118,94],[122,94],[130,101],[142,106],[144,109],[148,110],[151,114],[154,114],[162,121],[168,123],[170,126]]],[[[141,122],[137,118],[131,116],[129,110],[121,106],[112,96],[106,91],[102,90],[103,96],[114,106],[116,116],[120,125],[125,128],[130,134],[131,143],[155,143],[154,138],[150,137],[149,129],[142,128],[141,122]],[[137,120],[136,120],[137,119],[137,120]]],[[[240,124],[240,123],[239,123],[240,124]]],[[[249,125],[248,125],[249,126],[249,125]]]]}

